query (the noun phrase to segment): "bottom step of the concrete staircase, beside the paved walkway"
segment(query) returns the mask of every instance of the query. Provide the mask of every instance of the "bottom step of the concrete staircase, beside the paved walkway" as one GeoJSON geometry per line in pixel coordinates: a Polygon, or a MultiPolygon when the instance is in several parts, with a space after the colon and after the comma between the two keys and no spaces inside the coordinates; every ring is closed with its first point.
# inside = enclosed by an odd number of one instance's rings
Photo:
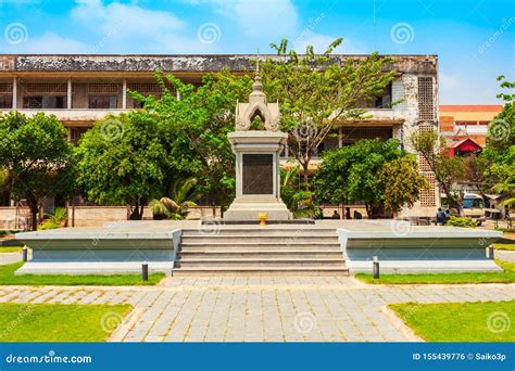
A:
{"type": "Polygon", "coordinates": [[[302,267],[302,268],[175,268],[174,277],[235,277],[235,276],[261,276],[261,277],[317,277],[317,276],[349,276],[347,268],[332,267],[302,267]]]}

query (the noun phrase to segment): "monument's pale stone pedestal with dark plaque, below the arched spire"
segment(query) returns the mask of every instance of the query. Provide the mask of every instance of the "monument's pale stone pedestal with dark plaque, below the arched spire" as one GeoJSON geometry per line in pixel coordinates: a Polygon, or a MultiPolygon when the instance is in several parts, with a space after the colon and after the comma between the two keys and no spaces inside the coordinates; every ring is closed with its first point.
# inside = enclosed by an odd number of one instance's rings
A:
{"type": "Polygon", "coordinates": [[[279,154],[288,135],[281,131],[235,131],[228,139],[236,154],[236,199],[225,220],[290,220],[292,214],[280,200],[279,154]]]}

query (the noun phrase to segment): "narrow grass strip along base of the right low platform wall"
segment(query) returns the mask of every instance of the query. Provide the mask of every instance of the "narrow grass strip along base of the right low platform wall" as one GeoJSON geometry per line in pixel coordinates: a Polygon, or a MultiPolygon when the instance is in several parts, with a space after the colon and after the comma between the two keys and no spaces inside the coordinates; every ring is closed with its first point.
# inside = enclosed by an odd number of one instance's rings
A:
{"type": "Polygon", "coordinates": [[[355,277],[366,283],[382,284],[429,284],[429,283],[512,283],[515,282],[515,263],[495,260],[503,272],[464,272],[464,273],[420,273],[420,274],[381,274],[374,280],[372,274],[357,273],[355,277]]]}

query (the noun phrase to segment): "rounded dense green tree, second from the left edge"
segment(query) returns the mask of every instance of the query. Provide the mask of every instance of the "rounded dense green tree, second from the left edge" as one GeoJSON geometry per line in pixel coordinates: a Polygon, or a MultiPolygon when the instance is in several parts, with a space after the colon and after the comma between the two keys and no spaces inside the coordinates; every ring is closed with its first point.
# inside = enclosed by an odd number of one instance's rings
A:
{"type": "Polygon", "coordinates": [[[161,142],[156,118],[137,111],[97,123],[75,155],[88,199],[125,204],[129,219],[141,219],[148,201],[163,194],[166,172],[176,164],[161,142]]]}

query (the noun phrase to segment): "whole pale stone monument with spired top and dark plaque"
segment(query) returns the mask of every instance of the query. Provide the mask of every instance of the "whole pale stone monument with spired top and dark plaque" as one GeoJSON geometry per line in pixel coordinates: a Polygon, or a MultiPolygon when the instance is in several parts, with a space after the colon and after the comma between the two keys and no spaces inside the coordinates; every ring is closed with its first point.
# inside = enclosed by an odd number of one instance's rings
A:
{"type": "Polygon", "coordinates": [[[236,105],[236,131],[228,138],[236,154],[236,199],[224,214],[225,220],[290,220],[292,214],[280,200],[279,155],[288,135],[279,131],[279,103],[267,103],[261,77],[252,85],[249,103],[236,105]],[[265,130],[251,130],[255,117],[265,130]]]}

